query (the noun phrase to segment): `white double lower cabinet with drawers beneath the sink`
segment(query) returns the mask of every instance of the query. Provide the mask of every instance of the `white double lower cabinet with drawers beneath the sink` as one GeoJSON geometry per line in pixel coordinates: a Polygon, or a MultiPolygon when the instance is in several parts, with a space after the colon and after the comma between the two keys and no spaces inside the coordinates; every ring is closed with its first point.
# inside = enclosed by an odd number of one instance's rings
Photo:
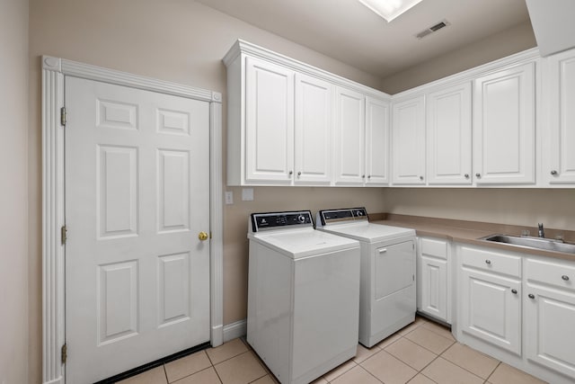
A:
{"type": "Polygon", "coordinates": [[[454,250],[457,341],[553,384],[575,382],[575,262],[454,250]]]}

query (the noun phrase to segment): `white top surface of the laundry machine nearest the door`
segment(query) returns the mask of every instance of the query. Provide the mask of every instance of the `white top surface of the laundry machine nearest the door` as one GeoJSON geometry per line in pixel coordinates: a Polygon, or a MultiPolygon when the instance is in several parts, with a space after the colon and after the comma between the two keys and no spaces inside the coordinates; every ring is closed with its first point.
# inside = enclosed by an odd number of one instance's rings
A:
{"type": "Polygon", "coordinates": [[[359,248],[356,240],[314,228],[249,233],[248,237],[294,259],[359,248]]]}

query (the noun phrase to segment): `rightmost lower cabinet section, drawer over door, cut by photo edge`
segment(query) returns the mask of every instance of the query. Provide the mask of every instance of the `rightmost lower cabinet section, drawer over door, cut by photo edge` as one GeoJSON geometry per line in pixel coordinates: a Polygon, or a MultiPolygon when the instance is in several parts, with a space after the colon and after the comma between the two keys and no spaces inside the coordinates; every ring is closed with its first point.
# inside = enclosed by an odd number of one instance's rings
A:
{"type": "Polygon", "coordinates": [[[526,358],[575,380],[575,263],[527,258],[526,358]]]}

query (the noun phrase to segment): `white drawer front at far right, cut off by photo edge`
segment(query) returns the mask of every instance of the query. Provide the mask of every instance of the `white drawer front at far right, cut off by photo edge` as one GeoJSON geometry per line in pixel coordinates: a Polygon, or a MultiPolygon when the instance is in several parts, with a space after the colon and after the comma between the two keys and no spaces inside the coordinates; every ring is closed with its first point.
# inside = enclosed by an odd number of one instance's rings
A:
{"type": "Polygon", "coordinates": [[[575,290],[575,264],[526,259],[527,281],[575,290]]]}

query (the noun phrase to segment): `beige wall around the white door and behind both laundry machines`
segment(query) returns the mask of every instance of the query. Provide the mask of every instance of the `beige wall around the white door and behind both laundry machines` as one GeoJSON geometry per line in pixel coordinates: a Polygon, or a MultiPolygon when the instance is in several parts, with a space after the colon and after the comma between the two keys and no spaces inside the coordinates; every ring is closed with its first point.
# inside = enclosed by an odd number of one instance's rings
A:
{"type": "MultiPolygon", "coordinates": [[[[380,79],[191,0],[31,0],[30,11],[30,382],[37,383],[41,370],[40,55],[208,88],[224,94],[224,111],[226,67],[221,59],[238,38],[368,86],[378,86],[380,79]]],[[[342,189],[257,188],[252,202],[242,202],[241,189],[233,190],[235,203],[224,212],[225,324],[246,316],[248,213],[364,203],[371,210],[383,210],[381,189],[350,194],[342,189]]]]}

